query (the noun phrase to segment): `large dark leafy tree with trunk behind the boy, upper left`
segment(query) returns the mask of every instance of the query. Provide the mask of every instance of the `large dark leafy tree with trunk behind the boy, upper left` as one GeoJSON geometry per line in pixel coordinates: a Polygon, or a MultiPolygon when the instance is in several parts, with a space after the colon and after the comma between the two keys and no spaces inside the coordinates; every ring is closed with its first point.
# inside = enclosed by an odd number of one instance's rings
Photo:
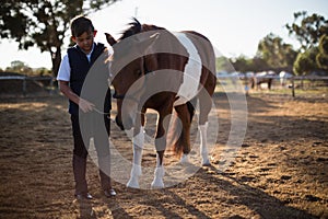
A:
{"type": "Polygon", "coordinates": [[[61,46],[70,20],[89,14],[117,0],[2,0],[0,4],[0,37],[13,38],[20,49],[36,45],[49,51],[52,73],[57,76],[61,46]]]}

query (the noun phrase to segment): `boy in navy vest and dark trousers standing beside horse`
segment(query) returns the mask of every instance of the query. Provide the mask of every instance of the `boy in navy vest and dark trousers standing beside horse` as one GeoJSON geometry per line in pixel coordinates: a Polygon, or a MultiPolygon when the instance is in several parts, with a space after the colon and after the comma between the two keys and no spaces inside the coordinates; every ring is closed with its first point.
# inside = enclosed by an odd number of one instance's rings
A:
{"type": "Polygon", "coordinates": [[[92,199],[85,180],[90,138],[94,138],[97,152],[101,184],[106,197],[116,193],[110,184],[109,111],[110,90],[108,68],[104,60],[108,51],[103,44],[94,43],[96,31],[85,16],[71,22],[75,46],[63,57],[57,80],[60,91],[69,99],[74,149],[73,174],[75,198],[92,199]],[[98,61],[99,60],[99,61],[98,61]],[[105,91],[104,91],[105,89],[105,91]]]}

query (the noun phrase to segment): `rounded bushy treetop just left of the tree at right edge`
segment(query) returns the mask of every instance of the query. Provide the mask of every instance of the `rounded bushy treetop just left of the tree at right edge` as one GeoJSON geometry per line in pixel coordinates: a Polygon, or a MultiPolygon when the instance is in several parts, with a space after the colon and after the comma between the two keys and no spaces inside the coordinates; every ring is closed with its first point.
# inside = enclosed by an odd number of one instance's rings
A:
{"type": "Polygon", "coordinates": [[[297,53],[290,44],[272,33],[258,44],[257,57],[262,58],[271,69],[292,69],[297,53]]]}

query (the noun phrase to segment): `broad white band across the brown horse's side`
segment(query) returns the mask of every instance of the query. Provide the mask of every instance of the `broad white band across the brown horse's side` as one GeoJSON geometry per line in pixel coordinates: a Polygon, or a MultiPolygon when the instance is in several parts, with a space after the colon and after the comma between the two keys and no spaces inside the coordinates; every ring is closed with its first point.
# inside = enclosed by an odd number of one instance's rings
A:
{"type": "Polygon", "coordinates": [[[174,33],[174,35],[189,54],[189,59],[184,71],[184,82],[177,93],[179,99],[174,103],[174,105],[177,106],[187,103],[187,101],[190,101],[197,95],[202,64],[196,46],[188,36],[185,33],[174,33]]]}

